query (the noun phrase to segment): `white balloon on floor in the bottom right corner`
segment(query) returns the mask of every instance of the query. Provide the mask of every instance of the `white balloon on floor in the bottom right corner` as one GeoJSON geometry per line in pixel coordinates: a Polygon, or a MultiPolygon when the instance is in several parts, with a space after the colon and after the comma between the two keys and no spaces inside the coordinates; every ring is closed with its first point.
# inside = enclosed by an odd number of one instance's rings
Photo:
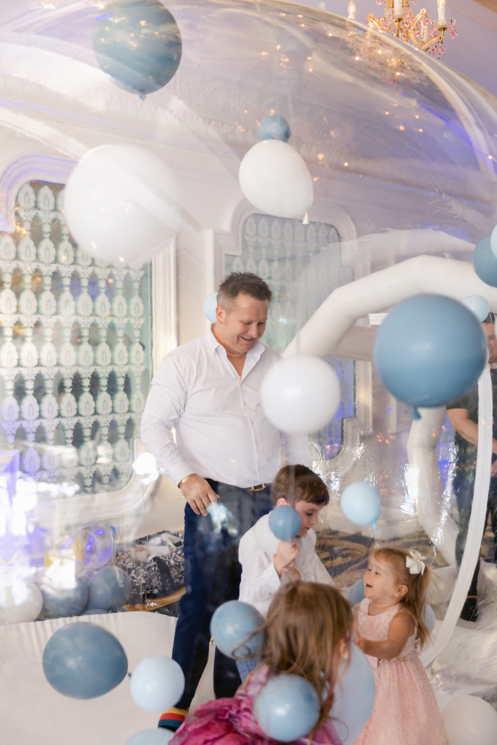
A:
{"type": "Polygon", "coordinates": [[[495,745],[497,711],[478,696],[457,696],[442,711],[449,745],[495,745]]]}

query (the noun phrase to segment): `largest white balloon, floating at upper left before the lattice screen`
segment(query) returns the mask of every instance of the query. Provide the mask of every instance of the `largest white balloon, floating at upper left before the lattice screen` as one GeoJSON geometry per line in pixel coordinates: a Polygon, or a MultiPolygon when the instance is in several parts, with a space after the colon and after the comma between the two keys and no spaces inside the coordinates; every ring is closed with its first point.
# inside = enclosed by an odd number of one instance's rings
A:
{"type": "Polygon", "coordinates": [[[100,145],[72,171],[66,220],[83,250],[104,264],[141,265],[165,247],[183,221],[180,186],[155,153],[100,145]]]}

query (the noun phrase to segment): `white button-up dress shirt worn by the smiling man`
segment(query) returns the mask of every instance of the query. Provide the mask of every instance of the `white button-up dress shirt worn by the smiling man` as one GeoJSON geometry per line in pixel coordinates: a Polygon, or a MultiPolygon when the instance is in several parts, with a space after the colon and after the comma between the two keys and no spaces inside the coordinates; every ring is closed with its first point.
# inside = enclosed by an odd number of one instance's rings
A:
{"type": "Polygon", "coordinates": [[[232,486],[270,484],[281,451],[288,463],[311,467],[308,437],[279,432],[262,411],[262,380],[278,360],[258,341],[238,378],[212,331],[165,355],[153,375],[141,435],[174,484],[190,473],[232,486]]]}

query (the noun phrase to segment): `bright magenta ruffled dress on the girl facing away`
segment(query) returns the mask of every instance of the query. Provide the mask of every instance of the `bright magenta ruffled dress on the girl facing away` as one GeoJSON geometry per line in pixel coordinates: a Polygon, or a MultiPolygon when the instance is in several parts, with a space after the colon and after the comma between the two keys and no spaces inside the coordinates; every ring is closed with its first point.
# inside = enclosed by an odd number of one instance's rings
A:
{"type": "MultiPolygon", "coordinates": [[[[221,698],[197,706],[187,717],[171,745],[276,745],[262,732],[253,715],[253,700],[265,684],[267,671],[259,668],[253,673],[246,688],[238,688],[232,698],[221,698]]],[[[308,738],[297,740],[298,745],[309,745],[308,738]]],[[[332,720],[328,718],[317,730],[310,745],[342,745],[332,720]]],[[[281,745],[278,743],[277,745],[281,745]]]]}

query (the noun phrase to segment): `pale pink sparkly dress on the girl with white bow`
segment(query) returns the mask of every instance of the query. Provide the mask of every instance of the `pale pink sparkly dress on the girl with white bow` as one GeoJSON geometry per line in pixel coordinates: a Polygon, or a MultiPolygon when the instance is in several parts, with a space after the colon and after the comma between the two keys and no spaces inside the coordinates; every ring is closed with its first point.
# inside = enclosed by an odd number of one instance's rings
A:
{"type": "MultiPolygon", "coordinates": [[[[368,615],[370,602],[365,597],[359,605],[359,634],[370,641],[386,641],[400,606],[368,615]]],[[[395,659],[367,659],[375,674],[375,706],[353,745],[448,745],[435,694],[417,656],[416,632],[395,659]]]]}

